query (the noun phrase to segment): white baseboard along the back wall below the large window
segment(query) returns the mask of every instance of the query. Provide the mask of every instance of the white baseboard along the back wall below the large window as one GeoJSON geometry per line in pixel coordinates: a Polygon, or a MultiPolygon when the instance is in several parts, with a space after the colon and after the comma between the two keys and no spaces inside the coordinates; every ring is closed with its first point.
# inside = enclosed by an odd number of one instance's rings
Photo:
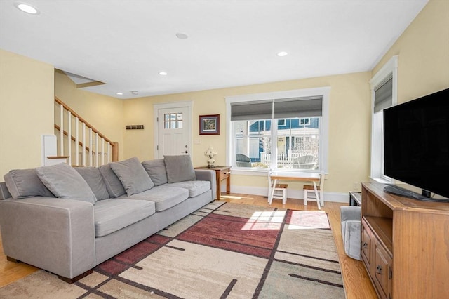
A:
{"type": "MultiPolygon", "coordinates": [[[[226,187],[222,186],[222,192],[226,192],[226,187]]],[[[232,193],[253,194],[267,196],[268,188],[250,186],[231,186],[232,193]]],[[[304,199],[304,192],[298,189],[287,189],[287,197],[290,199],[304,199]]],[[[349,204],[349,192],[326,192],[324,191],[324,201],[333,201],[349,204]]]]}

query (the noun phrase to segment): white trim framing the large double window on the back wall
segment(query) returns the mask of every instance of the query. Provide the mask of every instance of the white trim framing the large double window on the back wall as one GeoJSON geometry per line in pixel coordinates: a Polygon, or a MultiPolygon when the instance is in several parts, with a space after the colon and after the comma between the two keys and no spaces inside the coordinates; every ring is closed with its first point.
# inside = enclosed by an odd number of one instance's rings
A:
{"type": "MultiPolygon", "coordinates": [[[[231,165],[232,149],[234,146],[234,138],[232,138],[232,127],[231,127],[231,104],[235,102],[252,102],[257,100],[274,100],[281,98],[305,98],[311,96],[322,96],[323,97],[323,107],[322,116],[320,120],[320,170],[317,172],[328,173],[328,145],[329,145],[329,95],[330,86],[323,86],[318,88],[304,88],[304,89],[294,89],[290,91],[274,91],[272,93],[253,93],[249,95],[234,95],[226,97],[226,163],[231,165]]],[[[272,126],[273,128],[273,126],[272,126]]],[[[277,128],[277,126],[276,126],[277,128]]],[[[235,155],[235,153],[234,153],[235,155]]],[[[260,169],[255,170],[240,170],[232,169],[233,172],[238,172],[239,174],[255,174],[261,172],[260,169]]],[[[304,170],[300,170],[304,171],[304,170]]],[[[264,172],[265,173],[265,172],[264,172]]],[[[266,174],[265,174],[266,175],[266,174]]]]}

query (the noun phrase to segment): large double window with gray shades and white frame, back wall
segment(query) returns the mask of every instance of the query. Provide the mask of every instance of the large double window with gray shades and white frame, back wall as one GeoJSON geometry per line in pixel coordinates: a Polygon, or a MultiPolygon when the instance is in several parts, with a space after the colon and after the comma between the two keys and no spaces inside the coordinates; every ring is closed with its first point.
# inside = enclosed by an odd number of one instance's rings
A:
{"type": "Polygon", "coordinates": [[[228,158],[234,170],[326,171],[329,89],[227,98],[228,158]],[[294,96],[284,98],[289,95],[294,96]]]}

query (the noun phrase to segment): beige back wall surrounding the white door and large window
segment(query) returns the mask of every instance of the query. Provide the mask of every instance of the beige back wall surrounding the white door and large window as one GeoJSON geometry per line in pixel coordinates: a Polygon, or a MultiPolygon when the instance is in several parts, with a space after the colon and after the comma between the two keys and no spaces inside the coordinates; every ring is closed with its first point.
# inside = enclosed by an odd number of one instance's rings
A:
{"type": "MultiPolygon", "coordinates": [[[[139,132],[126,131],[124,133],[123,140],[126,144],[124,157],[136,156],[140,160],[153,159],[153,105],[155,103],[189,100],[194,102],[192,138],[201,140],[201,144],[193,145],[194,166],[206,164],[206,157],[204,157],[203,152],[208,145],[212,145],[217,150],[218,154],[215,157],[217,163],[224,165],[226,163],[225,97],[330,86],[329,175],[328,180],[326,180],[326,191],[347,192],[352,190],[353,182],[368,180],[369,80],[370,72],[361,72],[125,100],[123,105],[125,124],[144,124],[145,130],[139,130],[139,132]],[[220,135],[199,135],[198,119],[199,115],[202,114],[220,114],[220,135]]],[[[266,187],[267,178],[233,175],[232,185],[266,187]]]]}

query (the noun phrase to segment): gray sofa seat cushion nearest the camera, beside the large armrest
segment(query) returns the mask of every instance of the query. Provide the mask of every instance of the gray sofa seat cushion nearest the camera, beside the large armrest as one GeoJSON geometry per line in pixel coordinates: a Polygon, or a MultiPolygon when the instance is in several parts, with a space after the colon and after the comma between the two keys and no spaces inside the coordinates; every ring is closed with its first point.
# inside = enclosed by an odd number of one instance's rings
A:
{"type": "Polygon", "coordinates": [[[103,237],[123,227],[153,215],[156,206],[152,201],[105,199],[93,206],[95,237],[103,237]]]}

